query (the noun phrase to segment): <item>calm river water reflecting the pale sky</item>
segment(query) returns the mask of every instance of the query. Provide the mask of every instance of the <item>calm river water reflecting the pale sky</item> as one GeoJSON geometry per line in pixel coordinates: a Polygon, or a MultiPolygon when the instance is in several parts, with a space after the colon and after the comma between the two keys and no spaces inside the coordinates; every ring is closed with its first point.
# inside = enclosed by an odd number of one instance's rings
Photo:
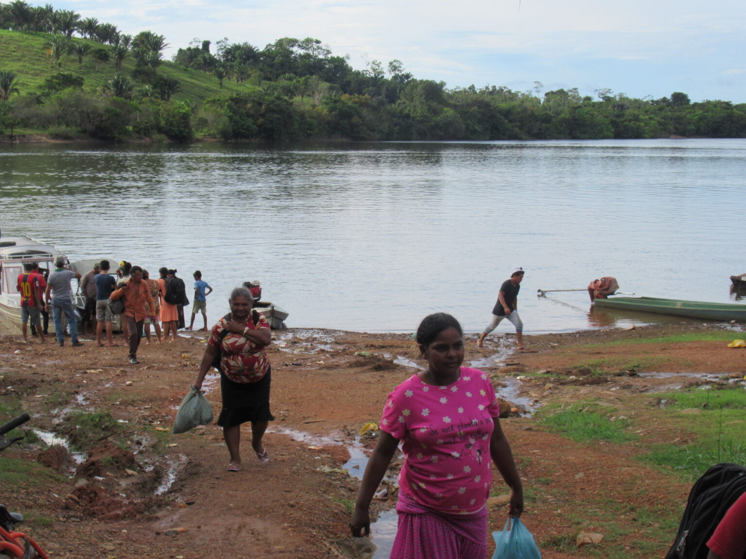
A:
{"type": "Polygon", "coordinates": [[[745,171],[745,139],[1,145],[0,228],[188,288],[199,269],[210,323],[259,279],[288,326],[411,331],[443,310],[476,332],[522,266],[525,331],[568,331],[666,319],[537,289],[738,296],[745,171]]]}

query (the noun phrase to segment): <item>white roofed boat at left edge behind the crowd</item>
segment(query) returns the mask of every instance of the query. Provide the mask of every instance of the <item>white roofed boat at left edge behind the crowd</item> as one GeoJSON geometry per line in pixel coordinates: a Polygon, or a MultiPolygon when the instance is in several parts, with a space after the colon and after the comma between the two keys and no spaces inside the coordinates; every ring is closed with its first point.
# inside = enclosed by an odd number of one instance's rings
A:
{"type": "MultiPolygon", "coordinates": [[[[21,326],[21,294],[18,276],[25,262],[37,262],[45,276],[54,270],[54,259],[64,256],[59,250],[31,237],[0,237],[0,315],[15,326],[21,326]],[[46,271],[46,273],[45,273],[46,271]]],[[[49,320],[49,332],[54,323],[49,320]]]]}

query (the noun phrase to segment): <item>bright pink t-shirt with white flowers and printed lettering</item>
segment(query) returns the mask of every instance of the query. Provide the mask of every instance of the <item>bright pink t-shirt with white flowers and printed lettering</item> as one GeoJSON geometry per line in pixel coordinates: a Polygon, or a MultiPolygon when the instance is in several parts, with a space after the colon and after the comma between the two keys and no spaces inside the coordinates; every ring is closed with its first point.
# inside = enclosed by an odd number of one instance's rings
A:
{"type": "Polygon", "coordinates": [[[452,385],[413,375],[389,394],[380,428],[404,440],[399,491],[451,514],[480,511],[492,484],[489,439],[500,408],[480,370],[461,367],[452,385]]]}

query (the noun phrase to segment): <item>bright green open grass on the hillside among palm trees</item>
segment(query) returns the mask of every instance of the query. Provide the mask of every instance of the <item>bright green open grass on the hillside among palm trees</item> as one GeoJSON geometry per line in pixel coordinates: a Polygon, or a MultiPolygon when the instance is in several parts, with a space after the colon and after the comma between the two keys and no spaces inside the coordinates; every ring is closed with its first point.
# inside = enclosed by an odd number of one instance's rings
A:
{"type": "MultiPolygon", "coordinates": [[[[57,72],[53,60],[47,54],[50,37],[51,35],[46,33],[25,33],[0,29],[0,70],[10,70],[18,75],[18,89],[21,95],[39,91],[45,78],[57,72]]],[[[78,38],[73,38],[73,40],[90,44],[92,50],[109,48],[95,41],[78,38]]],[[[107,63],[96,63],[90,55],[84,59],[81,68],[78,68],[78,60],[73,55],[66,55],[61,60],[61,71],[83,77],[85,79],[84,89],[87,91],[95,90],[117,72],[113,60],[107,63]]],[[[120,72],[131,75],[134,65],[134,58],[128,57],[122,63],[120,72]]],[[[176,78],[181,83],[181,92],[174,95],[175,99],[189,99],[196,104],[202,104],[206,98],[214,95],[248,89],[245,84],[228,80],[223,82],[223,89],[220,89],[218,80],[213,75],[182,68],[170,62],[164,62],[158,72],[176,78]]]]}

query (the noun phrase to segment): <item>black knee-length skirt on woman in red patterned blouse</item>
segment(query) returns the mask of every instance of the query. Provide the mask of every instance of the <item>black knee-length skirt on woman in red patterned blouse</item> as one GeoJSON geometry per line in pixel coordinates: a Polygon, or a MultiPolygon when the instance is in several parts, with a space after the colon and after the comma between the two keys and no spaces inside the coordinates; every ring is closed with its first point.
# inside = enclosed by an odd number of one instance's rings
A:
{"type": "Polygon", "coordinates": [[[220,394],[223,408],[218,417],[221,427],[233,427],[241,423],[273,421],[269,411],[269,385],[272,382],[272,367],[257,382],[233,382],[220,371],[220,394]]]}

